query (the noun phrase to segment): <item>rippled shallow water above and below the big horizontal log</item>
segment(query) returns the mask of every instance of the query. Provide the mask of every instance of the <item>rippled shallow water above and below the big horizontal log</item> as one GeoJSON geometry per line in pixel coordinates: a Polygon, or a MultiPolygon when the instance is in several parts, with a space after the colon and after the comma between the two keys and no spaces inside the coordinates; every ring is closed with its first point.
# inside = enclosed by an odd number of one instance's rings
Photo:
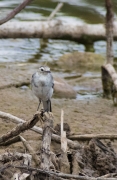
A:
{"type": "MultiPolygon", "coordinates": [[[[6,16],[22,0],[1,0],[0,18],[6,16]]],[[[35,0],[22,10],[11,21],[34,21],[46,20],[54,10],[58,2],[64,2],[62,9],[56,14],[55,19],[67,22],[79,22],[98,24],[105,21],[105,7],[103,0],[35,0]]],[[[117,14],[117,1],[114,2],[115,19],[117,14]]],[[[41,40],[41,39],[0,39],[0,62],[42,62],[58,60],[63,54],[73,51],[85,51],[83,44],[63,40],[41,40]]],[[[96,53],[106,54],[106,42],[94,43],[96,53]]],[[[117,58],[117,42],[114,42],[114,55],[117,58]]],[[[65,75],[64,75],[65,76],[65,75]]],[[[95,77],[93,72],[86,72],[85,77],[95,77]]],[[[97,76],[100,76],[100,72],[97,76]]],[[[98,93],[89,92],[87,87],[79,85],[74,87],[77,91],[83,91],[84,95],[78,94],[78,99],[89,99],[97,97],[98,93]]],[[[100,92],[99,92],[100,93],[100,92]]]]}

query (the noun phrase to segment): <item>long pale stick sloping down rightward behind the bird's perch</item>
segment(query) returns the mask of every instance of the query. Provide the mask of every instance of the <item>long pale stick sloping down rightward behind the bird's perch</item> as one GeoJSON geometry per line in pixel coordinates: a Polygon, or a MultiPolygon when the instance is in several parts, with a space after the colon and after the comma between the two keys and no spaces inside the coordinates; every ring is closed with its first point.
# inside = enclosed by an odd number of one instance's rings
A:
{"type": "MultiPolygon", "coordinates": [[[[18,118],[16,116],[13,116],[13,115],[11,115],[9,113],[5,113],[5,112],[2,112],[2,111],[0,111],[0,118],[7,119],[7,120],[12,121],[12,122],[17,123],[17,124],[18,123],[25,123],[25,121],[23,119],[20,119],[20,118],[18,118]]],[[[30,129],[37,132],[37,133],[39,133],[39,134],[43,133],[42,128],[39,128],[37,126],[34,126],[34,127],[30,128],[30,129]]],[[[54,140],[57,143],[61,142],[60,136],[58,136],[56,134],[52,134],[52,140],[54,140]]],[[[68,143],[68,146],[70,148],[73,148],[73,149],[79,149],[79,148],[82,147],[79,143],[73,142],[70,139],[67,139],[67,143],[68,143]]]]}

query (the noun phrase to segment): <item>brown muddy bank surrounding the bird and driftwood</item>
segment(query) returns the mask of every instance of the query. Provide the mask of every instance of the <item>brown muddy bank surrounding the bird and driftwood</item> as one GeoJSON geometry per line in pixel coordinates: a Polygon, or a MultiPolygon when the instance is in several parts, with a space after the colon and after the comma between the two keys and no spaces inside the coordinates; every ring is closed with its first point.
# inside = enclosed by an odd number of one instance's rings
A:
{"type": "MultiPolygon", "coordinates": [[[[37,70],[37,64],[14,64],[12,66],[9,64],[8,66],[1,64],[0,70],[0,110],[28,121],[35,114],[38,105],[38,99],[33,95],[29,86],[31,75],[37,70]]],[[[53,70],[53,74],[57,75],[58,72],[53,70]]],[[[64,122],[69,124],[71,134],[116,134],[117,107],[113,106],[111,99],[107,100],[102,98],[100,74],[93,72],[92,75],[87,71],[81,74],[74,72],[74,74],[71,75],[68,72],[60,74],[60,77],[64,78],[66,83],[74,87],[78,94],[76,99],[69,99],[64,96],[62,98],[53,96],[52,109],[54,126],[60,123],[60,113],[61,109],[63,109],[64,122]],[[89,94],[89,96],[86,96],[87,94],[89,94]],[[80,98],[81,96],[84,97],[80,98]]],[[[0,118],[0,123],[0,136],[16,126],[16,124],[2,118],[0,118]]],[[[43,123],[38,122],[37,126],[43,128],[43,123]]],[[[31,130],[21,133],[21,135],[38,154],[42,142],[41,135],[31,130]]],[[[103,140],[102,142],[106,146],[110,140],[103,140]]],[[[85,147],[83,151],[74,152],[68,149],[71,153],[70,156],[75,157],[77,153],[78,155],[80,153],[80,157],[83,159],[80,164],[81,167],[78,167],[80,170],[77,171],[77,174],[83,173],[88,176],[98,177],[105,173],[116,172],[115,163],[113,163],[115,159],[113,159],[111,154],[110,156],[106,154],[105,158],[105,153],[102,151],[100,155],[100,150],[97,150],[97,145],[91,144],[92,142],[79,141],[79,143],[85,147]],[[94,157],[95,162],[93,161],[94,157]],[[100,158],[102,158],[102,161],[100,158]],[[103,162],[104,158],[105,160],[103,162]],[[112,166],[109,166],[110,158],[112,160],[112,166]],[[88,169],[89,164],[90,169],[88,169]],[[107,165],[106,169],[105,164],[107,165]],[[100,167],[102,168],[100,169],[100,167]]],[[[116,153],[117,141],[111,141],[111,144],[116,153]]],[[[6,147],[2,146],[0,153],[8,151],[7,149],[11,152],[17,151],[25,153],[26,151],[21,142],[6,147]]],[[[51,150],[56,154],[60,154],[60,144],[52,141],[51,150]]],[[[74,169],[72,171],[75,172],[76,170],[74,169]]]]}

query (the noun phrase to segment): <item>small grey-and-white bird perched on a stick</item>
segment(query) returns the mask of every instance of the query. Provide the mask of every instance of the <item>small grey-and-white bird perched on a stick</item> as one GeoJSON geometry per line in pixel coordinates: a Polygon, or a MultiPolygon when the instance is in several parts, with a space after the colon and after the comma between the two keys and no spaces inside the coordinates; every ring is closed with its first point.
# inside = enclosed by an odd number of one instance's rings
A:
{"type": "Polygon", "coordinates": [[[48,66],[39,67],[38,71],[32,75],[31,87],[33,93],[39,99],[37,111],[42,102],[44,112],[52,112],[51,97],[53,95],[54,80],[48,66]]]}

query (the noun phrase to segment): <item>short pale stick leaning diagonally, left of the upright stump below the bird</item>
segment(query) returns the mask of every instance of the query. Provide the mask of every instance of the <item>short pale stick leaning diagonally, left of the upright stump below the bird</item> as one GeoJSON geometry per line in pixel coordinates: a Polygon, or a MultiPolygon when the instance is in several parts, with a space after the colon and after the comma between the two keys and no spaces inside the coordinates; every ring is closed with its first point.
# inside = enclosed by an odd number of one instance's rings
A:
{"type": "Polygon", "coordinates": [[[36,153],[34,152],[33,148],[30,146],[30,144],[22,137],[20,136],[20,139],[23,143],[23,145],[25,146],[25,148],[28,150],[28,152],[32,155],[32,158],[34,160],[34,163],[36,166],[39,166],[40,164],[40,159],[38,158],[38,156],[36,155],[36,153]]]}

